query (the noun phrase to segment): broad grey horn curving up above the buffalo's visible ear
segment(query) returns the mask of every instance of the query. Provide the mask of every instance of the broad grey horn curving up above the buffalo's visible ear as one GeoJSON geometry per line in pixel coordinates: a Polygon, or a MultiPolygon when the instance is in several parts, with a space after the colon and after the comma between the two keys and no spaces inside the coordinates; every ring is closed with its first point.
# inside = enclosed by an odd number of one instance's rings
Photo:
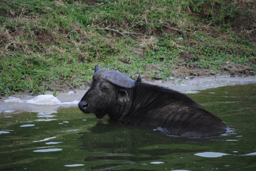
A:
{"type": "Polygon", "coordinates": [[[115,85],[124,88],[134,88],[138,86],[141,82],[141,76],[139,74],[137,80],[132,80],[128,76],[122,74],[118,71],[109,71],[103,76],[104,80],[107,80],[115,85]]]}

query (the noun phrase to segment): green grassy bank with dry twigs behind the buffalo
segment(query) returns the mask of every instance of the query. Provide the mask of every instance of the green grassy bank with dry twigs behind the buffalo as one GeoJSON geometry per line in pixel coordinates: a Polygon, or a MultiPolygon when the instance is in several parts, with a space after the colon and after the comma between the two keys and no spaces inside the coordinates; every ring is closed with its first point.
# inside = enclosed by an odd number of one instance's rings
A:
{"type": "Polygon", "coordinates": [[[232,4],[0,0],[0,94],[83,88],[95,64],[145,78],[168,78],[176,66],[212,74],[227,62],[255,68],[248,39],[255,30],[238,33],[230,25],[252,11],[232,4]]]}

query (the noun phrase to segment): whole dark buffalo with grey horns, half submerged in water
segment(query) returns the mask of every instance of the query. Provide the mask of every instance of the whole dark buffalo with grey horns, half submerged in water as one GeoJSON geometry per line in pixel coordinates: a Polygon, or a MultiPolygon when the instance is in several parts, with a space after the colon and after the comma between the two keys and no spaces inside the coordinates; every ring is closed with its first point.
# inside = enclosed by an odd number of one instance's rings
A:
{"type": "Polygon", "coordinates": [[[106,114],[132,125],[152,125],[170,135],[206,137],[226,132],[226,125],[188,96],[164,87],[141,83],[118,71],[99,69],[90,89],[78,103],[84,113],[106,114]]]}

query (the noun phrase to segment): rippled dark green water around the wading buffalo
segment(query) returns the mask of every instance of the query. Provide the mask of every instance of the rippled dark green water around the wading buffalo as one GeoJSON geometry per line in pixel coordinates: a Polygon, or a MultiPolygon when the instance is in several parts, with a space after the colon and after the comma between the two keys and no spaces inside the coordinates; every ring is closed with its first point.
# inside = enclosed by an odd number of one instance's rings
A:
{"type": "Polygon", "coordinates": [[[57,113],[0,108],[0,170],[255,171],[256,84],[188,95],[218,115],[229,133],[167,136],[155,127],[98,121],[76,105],[57,113]]]}

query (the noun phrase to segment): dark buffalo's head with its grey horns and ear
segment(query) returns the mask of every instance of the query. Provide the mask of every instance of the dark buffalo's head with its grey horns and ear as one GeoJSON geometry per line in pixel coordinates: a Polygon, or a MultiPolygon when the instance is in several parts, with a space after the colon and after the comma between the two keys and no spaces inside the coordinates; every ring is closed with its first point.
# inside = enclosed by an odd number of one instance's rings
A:
{"type": "Polygon", "coordinates": [[[96,65],[92,85],[78,103],[78,107],[84,113],[95,113],[96,117],[102,118],[110,109],[129,102],[126,89],[135,88],[140,82],[140,74],[137,80],[132,80],[118,71],[99,69],[96,65]]]}

